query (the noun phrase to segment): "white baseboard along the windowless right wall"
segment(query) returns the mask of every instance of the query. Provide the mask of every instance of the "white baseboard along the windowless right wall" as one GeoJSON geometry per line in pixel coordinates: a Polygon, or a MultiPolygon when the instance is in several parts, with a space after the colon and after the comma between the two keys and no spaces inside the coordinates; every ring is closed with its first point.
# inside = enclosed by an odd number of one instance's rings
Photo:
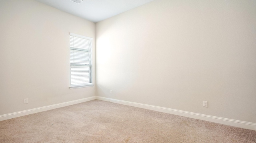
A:
{"type": "Polygon", "coordinates": [[[234,126],[234,127],[241,127],[244,129],[256,130],[256,123],[251,123],[251,122],[247,122],[247,121],[239,121],[239,120],[235,120],[235,119],[209,116],[209,115],[204,115],[204,114],[186,112],[186,111],[182,111],[182,110],[164,108],[164,107],[159,107],[159,106],[152,106],[152,105],[147,105],[147,104],[140,104],[140,103],[136,103],[136,102],[129,102],[129,101],[117,100],[117,99],[100,97],[100,96],[96,96],[96,99],[102,100],[102,101],[118,103],[118,104],[123,104],[123,105],[128,105],[128,106],[144,108],[144,109],[148,109],[148,110],[154,110],[154,111],[158,111],[158,112],[164,112],[164,113],[168,113],[168,114],[184,116],[184,117],[188,117],[188,118],[201,119],[204,121],[211,121],[214,123],[221,123],[224,125],[230,125],[230,126],[234,126]]]}

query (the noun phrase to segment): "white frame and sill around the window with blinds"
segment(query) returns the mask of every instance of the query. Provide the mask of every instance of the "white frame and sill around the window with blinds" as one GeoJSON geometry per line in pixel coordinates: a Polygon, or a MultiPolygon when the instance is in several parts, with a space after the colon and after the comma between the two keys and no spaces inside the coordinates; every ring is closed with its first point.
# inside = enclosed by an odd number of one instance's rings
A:
{"type": "MultiPolygon", "coordinates": [[[[74,41],[74,43],[75,43],[75,41],[74,41]]],[[[79,49],[79,48],[78,48],[79,49]]],[[[74,88],[83,88],[83,87],[89,87],[89,86],[94,86],[94,84],[92,83],[92,38],[91,37],[86,37],[86,36],[82,36],[82,35],[78,35],[78,34],[74,34],[74,33],[70,33],[70,89],[74,89],[74,88]],[[90,44],[90,46],[89,47],[87,47],[89,50],[89,63],[86,63],[86,64],[84,64],[84,63],[77,63],[77,61],[75,62],[75,50],[74,49],[76,49],[75,48],[75,44],[74,45],[72,45],[71,44],[71,38],[72,37],[78,37],[78,38],[82,38],[82,39],[86,39],[86,40],[90,40],[90,42],[91,42],[91,44],[90,44]],[[72,48],[73,48],[73,54],[72,54],[72,48]],[[71,56],[74,56],[74,58],[73,58],[73,61],[71,60],[71,56]],[[72,74],[74,75],[74,72],[72,73],[72,67],[89,67],[89,72],[88,72],[88,76],[89,76],[89,83],[80,83],[80,84],[72,84],[72,81],[74,80],[74,78],[73,78],[73,80],[72,80],[72,74]]]]}

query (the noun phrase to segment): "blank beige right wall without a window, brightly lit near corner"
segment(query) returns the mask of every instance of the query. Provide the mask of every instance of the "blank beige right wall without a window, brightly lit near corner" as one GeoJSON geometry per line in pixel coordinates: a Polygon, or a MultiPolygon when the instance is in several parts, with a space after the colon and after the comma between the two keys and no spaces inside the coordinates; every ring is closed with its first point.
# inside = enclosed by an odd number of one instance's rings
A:
{"type": "Polygon", "coordinates": [[[96,39],[97,96],[256,123],[255,0],[154,0],[96,39]]]}

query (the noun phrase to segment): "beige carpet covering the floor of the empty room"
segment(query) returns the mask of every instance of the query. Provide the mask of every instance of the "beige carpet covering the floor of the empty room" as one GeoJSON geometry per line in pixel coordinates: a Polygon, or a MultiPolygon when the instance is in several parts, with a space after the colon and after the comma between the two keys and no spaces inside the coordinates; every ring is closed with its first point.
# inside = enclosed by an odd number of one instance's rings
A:
{"type": "Polygon", "coordinates": [[[0,143],[256,143],[256,131],[93,100],[0,121],[0,143]]]}

